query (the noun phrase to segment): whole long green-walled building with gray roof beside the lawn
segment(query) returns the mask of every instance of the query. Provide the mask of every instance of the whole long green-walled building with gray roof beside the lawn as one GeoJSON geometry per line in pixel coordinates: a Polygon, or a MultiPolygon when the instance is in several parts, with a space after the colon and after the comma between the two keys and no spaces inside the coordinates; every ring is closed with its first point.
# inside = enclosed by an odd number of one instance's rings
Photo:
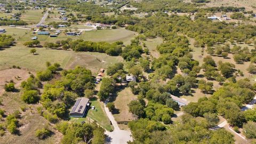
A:
{"type": "Polygon", "coordinates": [[[85,111],[87,107],[90,106],[89,99],[87,98],[79,98],[76,100],[75,105],[70,111],[70,117],[84,117],[85,111]]]}

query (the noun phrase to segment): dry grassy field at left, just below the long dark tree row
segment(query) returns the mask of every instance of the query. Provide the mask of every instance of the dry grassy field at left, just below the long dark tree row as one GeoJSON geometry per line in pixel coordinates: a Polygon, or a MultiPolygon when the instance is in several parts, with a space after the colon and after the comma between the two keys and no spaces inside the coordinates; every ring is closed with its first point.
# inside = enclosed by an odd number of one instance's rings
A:
{"type": "Polygon", "coordinates": [[[45,62],[50,61],[59,62],[62,68],[80,65],[91,69],[93,73],[98,73],[100,68],[107,68],[115,62],[123,61],[121,57],[112,57],[105,53],[36,48],[37,55],[33,55],[29,53],[30,49],[25,46],[13,46],[0,51],[0,69],[15,65],[38,71],[44,70],[45,62]]]}

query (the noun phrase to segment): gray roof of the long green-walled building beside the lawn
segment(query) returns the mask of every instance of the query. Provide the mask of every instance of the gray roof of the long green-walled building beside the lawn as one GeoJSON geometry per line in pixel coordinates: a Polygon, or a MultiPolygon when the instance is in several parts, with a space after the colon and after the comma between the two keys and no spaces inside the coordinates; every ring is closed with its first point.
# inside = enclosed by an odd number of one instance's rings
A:
{"type": "Polygon", "coordinates": [[[83,114],[88,102],[89,102],[89,99],[87,99],[87,98],[77,99],[75,105],[73,106],[72,110],[70,111],[70,114],[72,114],[72,113],[83,114]]]}

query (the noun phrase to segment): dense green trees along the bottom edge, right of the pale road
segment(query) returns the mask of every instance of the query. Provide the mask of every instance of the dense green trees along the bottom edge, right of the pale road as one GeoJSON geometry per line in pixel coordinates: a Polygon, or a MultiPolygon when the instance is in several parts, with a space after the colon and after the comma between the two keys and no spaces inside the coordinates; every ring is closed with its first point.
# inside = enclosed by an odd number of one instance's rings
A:
{"type": "Polygon", "coordinates": [[[180,124],[172,125],[171,129],[167,129],[162,123],[139,119],[129,123],[133,135],[131,143],[235,142],[234,135],[225,129],[209,130],[211,121],[211,117],[210,119],[195,118],[186,114],[182,116],[180,124]]]}

